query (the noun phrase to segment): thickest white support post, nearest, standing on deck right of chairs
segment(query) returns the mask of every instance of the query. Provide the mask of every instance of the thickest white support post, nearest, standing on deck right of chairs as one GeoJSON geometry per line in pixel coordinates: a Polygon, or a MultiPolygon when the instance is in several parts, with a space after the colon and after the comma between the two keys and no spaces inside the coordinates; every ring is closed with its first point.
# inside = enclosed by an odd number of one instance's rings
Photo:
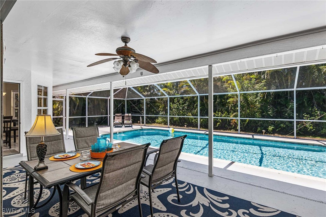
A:
{"type": "Polygon", "coordinates": [[[208,176],[213,177],[213,66],[208,66],[208,176]]]}

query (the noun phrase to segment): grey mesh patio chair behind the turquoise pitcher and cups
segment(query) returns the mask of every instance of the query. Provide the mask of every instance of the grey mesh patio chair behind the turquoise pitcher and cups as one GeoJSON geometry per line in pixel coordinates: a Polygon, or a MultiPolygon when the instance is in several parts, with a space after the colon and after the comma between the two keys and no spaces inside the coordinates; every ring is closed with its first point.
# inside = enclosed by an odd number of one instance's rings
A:
{"type": "Polygon", "coordinates": [[[91,149],[91,145],[97,142],[99,137],[98,127],[73,127],[74,144],[76,151],[91,149]]]}

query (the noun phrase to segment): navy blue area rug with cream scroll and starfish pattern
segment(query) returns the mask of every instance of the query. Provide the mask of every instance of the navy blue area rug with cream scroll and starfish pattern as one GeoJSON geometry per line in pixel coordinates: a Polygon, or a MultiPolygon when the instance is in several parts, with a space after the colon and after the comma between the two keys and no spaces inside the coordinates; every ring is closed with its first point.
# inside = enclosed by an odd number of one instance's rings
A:
{"type": "MultiPolygon", "coordinates": [[[[87,177],[87,185],[98,183],[99,179],[87,177]]],[[[178,181],[181,202],[178,202],[174,180],[171,179],[155,189],[153,197],[154,216],[160,217],[199,217],[199,216],[295,216],[280,210],[262,206],[244,199],[222,194],[208,188],[191,183],[178,181]]],[[[27,198],[24,199],[25,171],[20,166],[3,170],[3,208],[4,216],[26,215],[27,198]]],[[[79,181],[76,182],[79,185],[79,181]]],[[[143,216],[150,216],[148,191],[141,186],[141,202],[143,216]]],[[[35,200],[39,192],[39,185],[35,185],[35,200]]],[[[43,189],[38,205],[50,197],[53,188],[43,189]]],[[[44,207],[35,210],[33,216],[58,216],[59,198],[55,193],[52,200],[44,207]]],[[[76,204],[69,204],[70,216],[87,216],[76,204]]],[[[109,215],[110,217],[139,216],[138,202],[131,201],[124,207],[109,215]]]]}

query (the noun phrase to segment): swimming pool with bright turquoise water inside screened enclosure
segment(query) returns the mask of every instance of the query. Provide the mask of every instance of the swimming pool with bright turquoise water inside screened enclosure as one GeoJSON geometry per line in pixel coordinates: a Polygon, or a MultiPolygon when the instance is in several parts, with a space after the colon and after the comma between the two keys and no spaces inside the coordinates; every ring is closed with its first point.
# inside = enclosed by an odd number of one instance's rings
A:
{"type": "MultiPolygon", "coordinates": [[[[114,133],[113,138],[159,147],[162,140],[185,134],[182,152],[208,156],[208,135],[202,133],[138,129],[114,133]]],[[[214,158],[326,178],[326,147],[219,135],[214,135],[213,147],[214,158]]]]}

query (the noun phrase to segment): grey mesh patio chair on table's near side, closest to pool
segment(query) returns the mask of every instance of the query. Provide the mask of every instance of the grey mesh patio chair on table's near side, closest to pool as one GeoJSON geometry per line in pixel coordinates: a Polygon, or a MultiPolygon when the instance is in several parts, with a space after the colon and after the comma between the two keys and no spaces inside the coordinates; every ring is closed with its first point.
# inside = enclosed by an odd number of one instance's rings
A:
{"type": "MultiPolygon", "coordinates": [[[[178,180],[177,180],[177,163],[187,135],[163,140],[159,152],[155,155],[154,165],[147,165],[143,169],[145,178],[141,179],[141,184],[148,187],[149,205],[151,216],[153,217],[153,203],[151,191],[163,182],[174,178],[177,189],[178,201],[180,202],[178,180]]],[[[153,190],[154,191],[154,190],[153,190]]]]}

